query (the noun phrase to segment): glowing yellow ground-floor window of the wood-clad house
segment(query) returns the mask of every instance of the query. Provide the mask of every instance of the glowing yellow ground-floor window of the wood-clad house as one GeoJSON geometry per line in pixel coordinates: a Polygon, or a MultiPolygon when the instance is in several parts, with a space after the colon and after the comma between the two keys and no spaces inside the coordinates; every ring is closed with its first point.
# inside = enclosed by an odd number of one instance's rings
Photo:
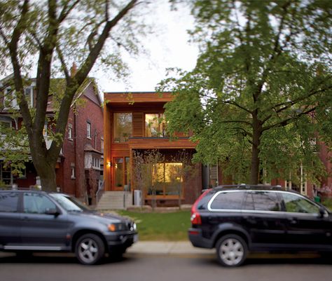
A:
{"type": "Polygon", "coordinates": [[[182,163],[158,163],[152,167],[152,186],[148,195],[179,196],[182,193],[182,163]]]}

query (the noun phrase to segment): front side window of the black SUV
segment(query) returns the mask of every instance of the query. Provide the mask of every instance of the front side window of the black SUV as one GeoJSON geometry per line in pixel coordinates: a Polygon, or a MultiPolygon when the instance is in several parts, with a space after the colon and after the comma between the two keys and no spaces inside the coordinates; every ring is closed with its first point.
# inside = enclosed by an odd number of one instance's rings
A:
{"type": "Polygon", "coordinates": [[[286,212],[318,214],[319,207],[305,198],[291,193],[282,193],[286,212]]]}

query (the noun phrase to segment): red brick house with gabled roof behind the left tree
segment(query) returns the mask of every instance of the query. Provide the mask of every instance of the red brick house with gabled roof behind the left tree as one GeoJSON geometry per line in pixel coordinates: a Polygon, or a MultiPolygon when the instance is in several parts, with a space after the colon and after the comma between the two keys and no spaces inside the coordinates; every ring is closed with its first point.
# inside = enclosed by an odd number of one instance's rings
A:
{"type": "MultiPolygon", "coordinates": [[[[64,79],[52,79],[51,85],[61,88],[64,79]]],[[[4,84],[4,83],[3,83],[4,84]]],[[[13,116],[13,111],[18,109],[18,104],[12,96],[11,88],[2,85],[4,95],[0,97],[0,122],[2,125],[20,128],[22,118],[13,116]]],[[[29,105],[34,107],[36,92],[35,82],[25,88],[29,105]]],[[[50,120],[55,114],[54,97],[50,95],[47,115],[50,120]]],[[[50,123],[45,125],[46,128],[50,123]]],[[[45,131],[46,146],[50,146],[45,131]]],[[[60,191],[76,197],[95,198],[95,193],[103,181],[103,109],[102,99],[93,78],[88,78],[79,88],[74,102],[71,105],[67,123],[64,143],[56,165],[57,186],[60,191]]],[[[6,149],[6,148],[2,148],[6,149]]],[[[17,148],[16,148],[17,149],[17,148]]],[[[0,159],[0,182],[6,186],[17,184],[18,187],[29,188],[39,184],[33,163],[26,163],[22,177],[11,173],[11,167],[4,167],[6,159],[0,159]]]]}

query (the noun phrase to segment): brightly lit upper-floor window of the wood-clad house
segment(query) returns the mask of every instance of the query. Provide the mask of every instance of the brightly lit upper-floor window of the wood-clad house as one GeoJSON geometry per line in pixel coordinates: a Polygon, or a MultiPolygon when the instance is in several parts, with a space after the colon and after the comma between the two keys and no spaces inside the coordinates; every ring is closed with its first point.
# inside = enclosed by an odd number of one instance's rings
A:
{"type": "Polygon", "coordinates": [[[144,137],[166,137],[164,114],[145,114],[144,137]]]}

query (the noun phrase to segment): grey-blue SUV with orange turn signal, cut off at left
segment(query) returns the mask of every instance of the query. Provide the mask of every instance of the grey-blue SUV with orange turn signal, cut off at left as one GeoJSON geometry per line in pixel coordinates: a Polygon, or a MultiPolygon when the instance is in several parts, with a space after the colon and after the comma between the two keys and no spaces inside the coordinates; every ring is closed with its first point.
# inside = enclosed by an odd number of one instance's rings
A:
{"type": "Polygon", "coordinates": [[[90,210],[63,193],[0,191],[0,250],[74,252],[83,264],[137,241],[130,219],[90,210]]]}

